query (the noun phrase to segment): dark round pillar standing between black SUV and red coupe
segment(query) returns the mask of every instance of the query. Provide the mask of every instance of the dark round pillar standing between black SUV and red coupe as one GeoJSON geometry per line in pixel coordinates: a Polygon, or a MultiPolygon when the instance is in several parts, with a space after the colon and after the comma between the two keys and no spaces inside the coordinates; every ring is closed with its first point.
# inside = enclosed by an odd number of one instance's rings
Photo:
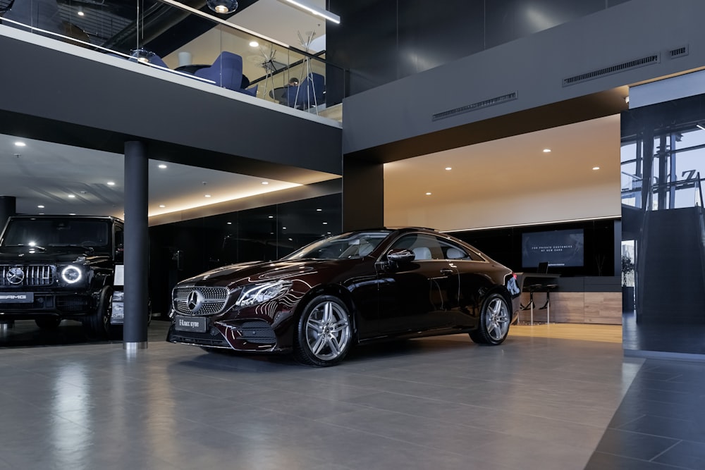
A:
{"type": "Polygon", "coordinates": [[[125,325],[123,348],[147,347],[149,232],[144,142],[125,142],[125,325]]]}

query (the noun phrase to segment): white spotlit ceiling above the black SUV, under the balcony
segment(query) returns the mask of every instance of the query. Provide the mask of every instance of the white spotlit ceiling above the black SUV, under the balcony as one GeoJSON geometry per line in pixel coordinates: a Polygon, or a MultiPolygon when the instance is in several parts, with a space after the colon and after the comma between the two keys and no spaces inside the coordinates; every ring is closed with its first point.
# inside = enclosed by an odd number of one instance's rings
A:
{"type": "MultiPolygon", "coordinates": [[[[159,168],[161,163],[149,161],[149,216],[297,186],[177,163],[159,168]]],[[[123,166],[121,154],[0,135],[2,194],[16,197],[18,212],[123,218],[123,166]]]]}

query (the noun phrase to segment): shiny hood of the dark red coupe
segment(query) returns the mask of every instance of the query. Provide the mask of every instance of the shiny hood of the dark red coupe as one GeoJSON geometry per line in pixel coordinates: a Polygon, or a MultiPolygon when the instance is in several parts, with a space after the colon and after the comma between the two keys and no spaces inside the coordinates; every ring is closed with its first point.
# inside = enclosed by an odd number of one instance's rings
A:
{"type": "Polygon", "coordinates": [[[268,280],[310,278],[323,271],[338,271],[345,269],[350,261],[332,259],[298,259],[281,261],[252,261],[232,264],[222,268],[212,269],[206,273],[181,281],[180,285],[244,285],[263,283],[268,280]]]}

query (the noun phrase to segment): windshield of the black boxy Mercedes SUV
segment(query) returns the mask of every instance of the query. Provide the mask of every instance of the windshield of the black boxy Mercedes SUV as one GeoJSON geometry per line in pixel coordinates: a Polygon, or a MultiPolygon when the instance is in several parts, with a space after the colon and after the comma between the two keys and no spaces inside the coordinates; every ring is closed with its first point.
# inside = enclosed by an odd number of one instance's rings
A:
{"type": "Polygon", "coordinates": [[[8,225],[2,246],[106,247],[110,242],[106,221],[63,218],[14,219],[8,225]]]}

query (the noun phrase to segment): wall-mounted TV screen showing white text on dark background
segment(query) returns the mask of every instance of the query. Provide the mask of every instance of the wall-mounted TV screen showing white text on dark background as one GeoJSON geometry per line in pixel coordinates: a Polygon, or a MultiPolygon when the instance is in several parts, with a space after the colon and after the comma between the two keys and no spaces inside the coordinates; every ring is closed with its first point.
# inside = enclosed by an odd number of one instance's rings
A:
{"type": "Polygon", "coordinates": [[[522,233],[522,266],[583,266],[584,237],[582,228],[522,233]]]}

